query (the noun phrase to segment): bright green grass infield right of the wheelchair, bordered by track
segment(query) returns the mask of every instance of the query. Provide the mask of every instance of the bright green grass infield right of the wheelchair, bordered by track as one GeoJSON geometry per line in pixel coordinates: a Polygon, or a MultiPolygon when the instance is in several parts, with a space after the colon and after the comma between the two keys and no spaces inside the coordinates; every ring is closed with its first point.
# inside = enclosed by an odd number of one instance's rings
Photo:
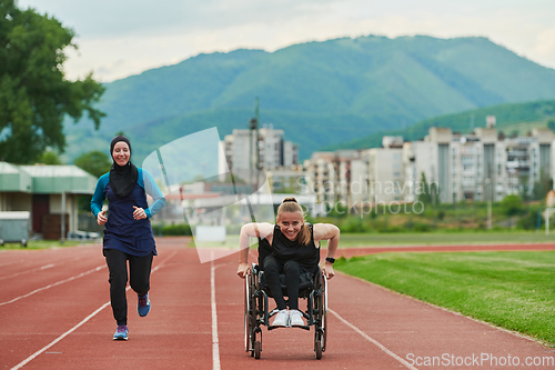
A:
{"type": "Polygon", "coordinates": [[[555,346],[555,251],[383,253],[334,267],[555,346]]]}

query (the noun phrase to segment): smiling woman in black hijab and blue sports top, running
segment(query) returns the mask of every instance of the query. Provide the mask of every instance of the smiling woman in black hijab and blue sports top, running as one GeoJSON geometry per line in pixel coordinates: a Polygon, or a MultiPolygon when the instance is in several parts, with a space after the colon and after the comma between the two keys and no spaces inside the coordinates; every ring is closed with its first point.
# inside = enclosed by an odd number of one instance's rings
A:
{"type": "Polygon", "coordinates": [[[118,329],[114,340],[128,339],[128,301],[125,286],[129,281],[137,292],[140,317],[150,312],[150,272],[157,246],[150,218],[165,206],[165,198],[152,176],[130,161],[131,142],[117,136],[110,143],[113,164],[110,172],[100,177],[91,200],[91,210],[98,224],[104,224],[103,254],[110,271],[110,301],[118,329]],[[154,200],[149,207],[147,194],[154,200]],[[109,213],[102,210],[109,201],[109,213]]]}

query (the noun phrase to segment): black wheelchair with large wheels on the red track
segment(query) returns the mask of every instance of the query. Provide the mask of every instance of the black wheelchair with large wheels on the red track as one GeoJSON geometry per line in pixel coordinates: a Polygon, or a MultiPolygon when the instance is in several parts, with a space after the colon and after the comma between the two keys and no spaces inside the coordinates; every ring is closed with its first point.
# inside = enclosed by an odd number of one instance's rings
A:
{"type": "MultiPolygon", "coordinates": [[[[278,308],[269,310],[269,298],[272,296],[264,281],[264,271],[260,266],[262,266],[263,258],[268,256],[271,247],[268,241],[265,241],[268,246],[264,246],[264,241],[265,239],[259,240],[259,264],[252,263],[244,286],[245,351],[255,359],[260,359],[262,352],[261,327],[266,326],[269,331],[282,328],[270,326],[270,319],[279,310],[278,308]]],[[[281,274],[280,280],[283,296],[286,299],[285,277],[281,274]]],[[[302,313],[307,323],[299,328],[310,331],[311,327],[314,327],[314,353],[320,360],[327,344],[327,279],[320,268],[315,273],[301,274],[299,299],[306,299],[306,310],[302,313]]]]}

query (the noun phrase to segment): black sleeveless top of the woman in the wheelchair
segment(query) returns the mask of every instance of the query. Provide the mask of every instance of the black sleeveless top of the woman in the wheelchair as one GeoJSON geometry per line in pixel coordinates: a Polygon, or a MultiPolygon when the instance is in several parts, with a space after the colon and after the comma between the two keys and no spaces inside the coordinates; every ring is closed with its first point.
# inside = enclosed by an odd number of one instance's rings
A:
{"type": "Polygon", "coordinates": [[[289,240],[276,224],[274,227],[272,240],[272,256],[282,264],[293,260],[299,262],[304,271],[314,272],[320,262],[320,243],[317,247],[315,246],[312,224],[307,224],[310,228],[311,241],[306,246],[302,246],[295,240],[289,240]]]}

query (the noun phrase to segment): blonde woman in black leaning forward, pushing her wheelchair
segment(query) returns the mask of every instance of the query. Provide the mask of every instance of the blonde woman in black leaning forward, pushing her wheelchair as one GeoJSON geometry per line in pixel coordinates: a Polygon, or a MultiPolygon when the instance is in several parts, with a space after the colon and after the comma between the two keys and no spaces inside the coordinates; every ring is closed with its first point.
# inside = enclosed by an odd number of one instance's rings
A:
{"type": "Polygon", "coordinates": [[[286,198],[278,208],[276,224],[268,222],[246,223],[241,228],[240,261],[238,274],[245,278],[249,273],[249,238],[265,238],[272,246],[272,253],[263,264],[266,284],[278,306],[273,327],[302,327],[303,314],[299,310],[299,286],[302,273],[317,271],[320,261],[320,240],[329,240],[327,258],[322,272],[333,278],[333,262],[340,240],[340,229],[331,223],[311,226],[304,221],[303,209],[295,198],[286,198]],[[280,273],[285,274],[289,310],[283,298],[280,273]]]}

